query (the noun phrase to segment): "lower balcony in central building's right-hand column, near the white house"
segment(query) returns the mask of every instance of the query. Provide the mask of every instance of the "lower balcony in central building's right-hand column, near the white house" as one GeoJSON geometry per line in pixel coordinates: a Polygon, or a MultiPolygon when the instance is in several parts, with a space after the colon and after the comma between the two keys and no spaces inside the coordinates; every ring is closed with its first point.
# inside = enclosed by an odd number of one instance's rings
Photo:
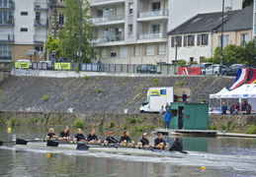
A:
{"type": "Polygon", "coordinates": [[[138,34],[138,40],[140,40],[141,42],[167,42],[167,35],[165,32],[140,33],[138,34]]]}

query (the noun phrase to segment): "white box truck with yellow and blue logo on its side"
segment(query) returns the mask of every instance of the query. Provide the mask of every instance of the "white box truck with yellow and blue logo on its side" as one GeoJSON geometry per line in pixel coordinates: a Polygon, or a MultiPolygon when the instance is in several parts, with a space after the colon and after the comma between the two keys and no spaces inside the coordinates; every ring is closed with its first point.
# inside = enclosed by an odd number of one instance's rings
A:
{"type": "MultiPolygon", "coordinates": [[[[172,102],[183,102],[183,91],[187,94],[186,102],[191,102],[191,89],[190,88],[149,88],[147,90],[146,99],[142,102],[139,108],[140,113],[143,112],[158,112],[161,106],[165,107],[166,103],[171,105],[172,102]]],[[[165,108],[164,108],[165,110],[165,108]]]]}

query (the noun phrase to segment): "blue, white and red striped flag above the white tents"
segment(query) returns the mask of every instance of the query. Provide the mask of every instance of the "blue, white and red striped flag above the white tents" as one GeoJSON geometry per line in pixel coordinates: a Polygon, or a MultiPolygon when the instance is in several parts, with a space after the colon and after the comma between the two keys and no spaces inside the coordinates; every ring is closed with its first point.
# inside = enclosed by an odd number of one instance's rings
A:
{"type": "Polygon", "coordinates": [[[229,89],[236,89],[247,81],[249,68],[239,68],[233,85],[229,89]]]}

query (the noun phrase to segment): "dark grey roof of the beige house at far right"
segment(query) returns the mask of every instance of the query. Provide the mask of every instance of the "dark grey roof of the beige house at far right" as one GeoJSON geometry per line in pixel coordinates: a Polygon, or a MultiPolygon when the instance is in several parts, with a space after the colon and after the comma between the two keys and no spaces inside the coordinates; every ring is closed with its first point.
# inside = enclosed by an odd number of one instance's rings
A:
{"type": "MultiPolygon", "coordinates": [[[[224,24],[223,31],[252,29],[252,23],[253,7],[247,6],[224,24]]],[[[221,28],[219,27],[216,30],[220,31],[221,28]]]]}

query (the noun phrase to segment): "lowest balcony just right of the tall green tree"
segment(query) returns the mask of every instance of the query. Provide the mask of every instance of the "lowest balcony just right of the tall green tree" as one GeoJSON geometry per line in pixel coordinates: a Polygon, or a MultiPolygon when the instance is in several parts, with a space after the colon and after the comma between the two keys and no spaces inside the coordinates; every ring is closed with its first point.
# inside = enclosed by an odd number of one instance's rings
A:
{"type": "Polygon", "coordinates": [[[125,35],[111,35],[105,37],[98,37],[94,42],[97,46],[105,46],[105,45],[119,45],[124,44],[125,35]]]}

